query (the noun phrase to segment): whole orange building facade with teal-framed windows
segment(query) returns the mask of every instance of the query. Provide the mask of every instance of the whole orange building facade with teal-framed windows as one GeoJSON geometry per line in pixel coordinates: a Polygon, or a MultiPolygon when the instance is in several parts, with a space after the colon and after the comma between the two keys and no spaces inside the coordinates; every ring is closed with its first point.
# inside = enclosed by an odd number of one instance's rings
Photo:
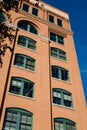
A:
{"type": "MultiPolygon", "coordinates": [[[[67,13],[23,0],[0,69],[1,130],[86,130],[87,108],[67,13]]],[[[7,41],[8,42],[8,41],[7,41]]]]}

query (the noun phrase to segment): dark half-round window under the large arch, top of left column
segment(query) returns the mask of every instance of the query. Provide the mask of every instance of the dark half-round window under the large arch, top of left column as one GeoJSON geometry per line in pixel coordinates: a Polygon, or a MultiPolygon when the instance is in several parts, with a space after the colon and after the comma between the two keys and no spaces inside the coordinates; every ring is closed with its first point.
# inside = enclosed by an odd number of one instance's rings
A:
{"type": "Polygon", "coordinates": [[[38,34],[38,31],[37,31],[36,27],[34,25],[32,25],[30,22],[28,22],[28,21],[20,21],[18,23],[18,27],[23,29],[23,30],[26,30],[28,32],[38,34]]]}

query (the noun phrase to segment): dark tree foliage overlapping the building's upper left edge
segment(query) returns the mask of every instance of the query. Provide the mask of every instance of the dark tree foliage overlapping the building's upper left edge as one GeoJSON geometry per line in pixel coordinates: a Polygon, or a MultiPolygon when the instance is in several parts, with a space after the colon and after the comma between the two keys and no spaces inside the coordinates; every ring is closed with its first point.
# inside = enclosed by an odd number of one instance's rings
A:
{"type": "Polygon", "coordinates": [[[10,44],[14,39],[13,32],[15,31],[9,23],[12,22],[10,10],[14,9],[18,11],[20,0],[3,0],[0,2],[0,66],[3,64],[3,56],[6,53],[6,50],[9,49],[12,52],[10,44]],[[6,43],[6,39],[9,40],[9,43],[6,43]]]}

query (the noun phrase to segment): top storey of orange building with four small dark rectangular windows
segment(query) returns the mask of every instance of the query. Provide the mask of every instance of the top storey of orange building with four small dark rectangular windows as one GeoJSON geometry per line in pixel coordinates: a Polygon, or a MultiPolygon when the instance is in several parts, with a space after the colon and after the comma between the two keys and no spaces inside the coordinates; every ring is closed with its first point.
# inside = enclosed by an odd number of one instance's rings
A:
{"type": "Polygon", "coordinates": [[[71,31],[69,15],[42,1],[23,0],[20,2],[19,12],[25,16],[32,16],[48,25],[71,31]]]}

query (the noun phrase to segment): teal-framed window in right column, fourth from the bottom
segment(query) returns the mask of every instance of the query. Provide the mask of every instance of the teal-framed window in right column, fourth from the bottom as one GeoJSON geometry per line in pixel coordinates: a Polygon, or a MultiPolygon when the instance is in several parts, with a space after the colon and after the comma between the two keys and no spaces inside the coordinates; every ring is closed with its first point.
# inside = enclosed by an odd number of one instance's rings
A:
{"type": "Polygon", "coordinates": [[[66,61],[66,52],[60,49],[51,47],[51,56],[66,61]]]}

